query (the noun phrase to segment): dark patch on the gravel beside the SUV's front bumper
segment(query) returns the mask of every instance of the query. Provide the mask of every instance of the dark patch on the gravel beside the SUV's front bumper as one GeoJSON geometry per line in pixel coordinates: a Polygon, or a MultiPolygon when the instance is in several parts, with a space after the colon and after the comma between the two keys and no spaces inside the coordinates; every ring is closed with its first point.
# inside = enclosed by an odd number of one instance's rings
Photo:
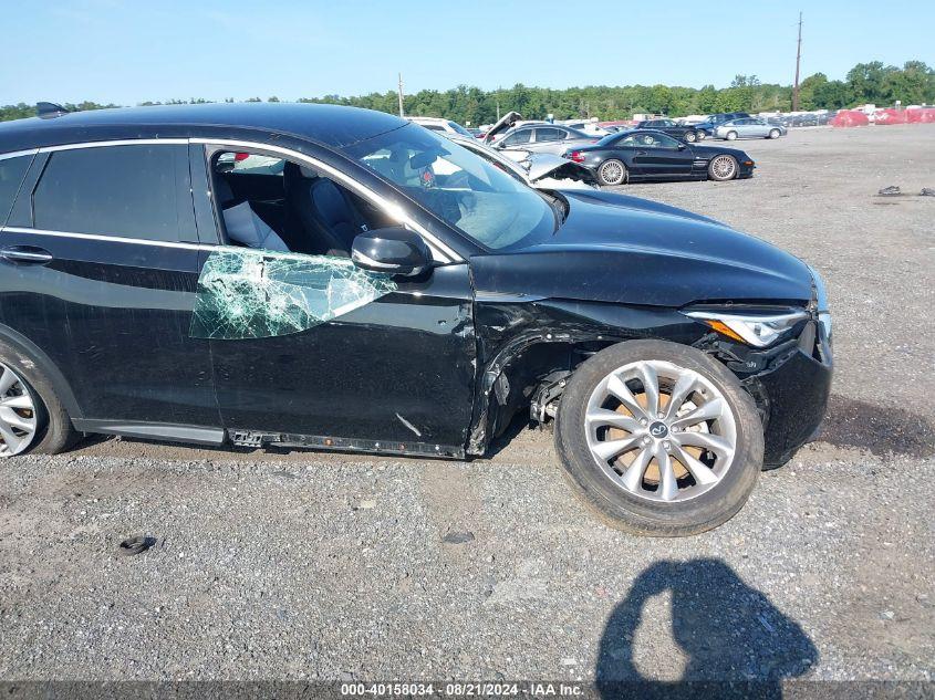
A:
{"type": "Polygon", "coordinates": [[[924,416],[832,395],[817,440],[870,450],[877,457],[935,455],[935,426],[924,416]]]}

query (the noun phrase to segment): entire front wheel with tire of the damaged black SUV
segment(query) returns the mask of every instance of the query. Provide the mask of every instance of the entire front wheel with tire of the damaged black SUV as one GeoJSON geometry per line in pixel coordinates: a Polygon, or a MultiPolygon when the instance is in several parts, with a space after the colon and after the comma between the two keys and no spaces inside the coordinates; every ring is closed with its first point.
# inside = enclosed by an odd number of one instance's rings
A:
{"type": "MultiPolygon", "coordinates": [[[[611,400],[615,400],[613,396],[611,400]]],[[[643,409],[650,408],[645,401],[641,406],[643,409]]],[[[640,407],[637,409],[642,410],[640,407]]],[[[762,468],[762,425],[750,395],[742,389],[734,374],[716,359],[698,349],[676,343],[631,341],[613,345],[592,356],[569,380],[555,420],[555,448],[564,474],[575,493],[610,526],[634,534],[685,536],[725,523],[747,502],[762,468]],[[655,420],[650,422],[648,427],[642,427],[634,418],[637,412],[630,411],[627,417],[626,409],[621,411],[617,407],[615,410],[607,410],[600,408],[605,406],[604,404],[595,404],[607,390],[605,387],[612,376],[623,377],[623,386],[632,391],[631,399],[635,398],[637,403],[641,396],[646,399],[647,395],[643,391],[640,379],[635,383],[633,379],[626,379],[626,373],[638,374],[641,367],[647,366],[655,367],[661,379],[657,382],[657,396],[661,397],[658,407],[667,407],[673,391],[679,386],[665,386],[664,382],[672,379],[666,378],[664,373],[672,376],[682,376],[676,375],[676,372],[684,373],[684,376],[688,377],[686,386],[692,387],[692,390],[684,395],[684,400],[676,406],[673,418],[676,424],[672,426],[675,431],[663,433],[663,437],[654,433],[656,437],[650,438],[648,432],[655,430],[658,424],[665,422],[664,420],[655,420]],[[637,369],[633,369],[634,367],[637,369]],[[617,372],[621,374],[615,375],[617,372]],[[696,391],[694,387],[699,389],[696,391]],[[704,394],[699,395],[702,389],[704,394]],[[595,399],[595,396],[599,399],[595,399]],[[678,426],[679,420],[692,420],[688,414],[715,408],[723,412],[710,422],[704,424],[706,428],[702,428],[700,422],[697,430],[695,425],[678,426]],[[685,414],[685,410],[688,414],[685,414]],[[595,424],[601,424],[601,420],[593,417],[607,414],[620,416],[617,420],[637,425],[638,430],[626,435],[624,428],[603,426],[595,429],[595,424]],[[604,428],[604,435],[610,437],[595,442],[594,436],[599,437],[604,428]],[[613,430],[620,430],[626,439],[611,436],[613,430]],[[640,437],[640,430],[643,437],[640,437]],[[614,447],[630,441],[630,438],[637,441],[633,452],[612,456],[612,463],[609,463],[609,460],[601,463],[600,458],[592,451],[592,446],[614,447]],[[645,447],[647,440],[652,442],[651,447],[645,447]],[[705,448],[690,445],[698,440],[710,443],[720,452],[715,455],[705,448]],[[729,445],[731,440],[733,451],[728,455],[724,451],[724,446],[729,445]],[[637,450],[630,466],[620,467],[620,460],[626,459],[637,450]],[[647,450],[653,450],[653,456],[647,461],[641,461],[642,453],[647,450]],[[697,457],[690,470],[678,461],[685,459],[686,464],[692,463],[686,450],[694,450],[697,457]],[[671,457],[665,457],[666,453],[671,457]],[[668,469],[663,469],[656,455],[663,457],[668,469]],[[710,468],[702,460],[710,462],[710,468]],[[633,489],[626,485],[624,478],[624,474],[628,476],[634,471],[631,467],[636,467],[638,479],[633,489]],[[699,480],[695,479],[696,472],[699,480]],[[668,473],[669,478],[666,479],[664,473],[668,473]],[[646,489],[653,487],[653,478],[656,480],[655,491],[646,489]],[[713,479],[715,480],[711,481],[713,479]],[[675,495],[671,495],[673,484],[675,495]]],[[[630,481],[632,485],[633,480],[630,481]]]]}

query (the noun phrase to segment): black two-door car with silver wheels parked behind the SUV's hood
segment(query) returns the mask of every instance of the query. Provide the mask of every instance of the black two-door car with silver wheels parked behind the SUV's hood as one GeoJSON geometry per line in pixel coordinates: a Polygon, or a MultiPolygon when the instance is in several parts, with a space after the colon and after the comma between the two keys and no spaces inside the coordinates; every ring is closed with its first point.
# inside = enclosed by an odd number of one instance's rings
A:
{"type": "Polygon", "coordinates": [[[601,185],[635,180],[733,180],[750,177],[752,158],[736,148],[684,144],[668,134],[633,129],[605,136],[565,158],[594,171],[601,185]]]}

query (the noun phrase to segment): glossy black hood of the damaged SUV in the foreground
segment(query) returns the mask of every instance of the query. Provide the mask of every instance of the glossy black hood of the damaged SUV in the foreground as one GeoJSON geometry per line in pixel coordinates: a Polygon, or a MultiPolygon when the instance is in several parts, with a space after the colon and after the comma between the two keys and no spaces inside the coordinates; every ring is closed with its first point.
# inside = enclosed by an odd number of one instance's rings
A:
{"type": "Polygon", "coordinates": [[[808,267],[765,241],[635,197],[563,195],[569,213],[550,239],[471,259],[478,293],[676,309],[811,300],[808,267]]]}

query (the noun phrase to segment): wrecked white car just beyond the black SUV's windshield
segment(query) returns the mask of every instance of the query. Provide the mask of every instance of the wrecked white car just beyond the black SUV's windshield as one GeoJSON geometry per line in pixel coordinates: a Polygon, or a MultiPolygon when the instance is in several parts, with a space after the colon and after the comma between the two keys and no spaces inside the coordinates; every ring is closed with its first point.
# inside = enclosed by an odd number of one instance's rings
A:
{"type": "Polygon", "coordinates": [[[529,150],[500,152],[474,137],[446,136],[536,189],[594,189],[596,185],[591,170],[560,156],[529,150]]]}

